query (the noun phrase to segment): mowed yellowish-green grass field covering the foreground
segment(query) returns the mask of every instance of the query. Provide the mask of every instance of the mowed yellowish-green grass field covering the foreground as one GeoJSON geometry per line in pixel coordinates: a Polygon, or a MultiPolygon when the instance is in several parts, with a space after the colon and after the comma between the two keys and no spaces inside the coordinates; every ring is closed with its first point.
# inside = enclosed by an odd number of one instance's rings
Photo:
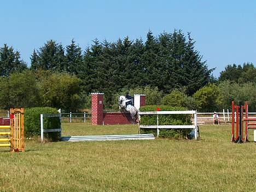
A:
{"type": "MultiPolygon", "coordinates": [[[[62,128],[63,136],[137,133],[136,125],[62,128]]],[[[230,132],[208,125],[200,141],[26,140],[25,153],[1,149],[0,191],[255,191],[256,143],[232,143],[230,132]]]]}

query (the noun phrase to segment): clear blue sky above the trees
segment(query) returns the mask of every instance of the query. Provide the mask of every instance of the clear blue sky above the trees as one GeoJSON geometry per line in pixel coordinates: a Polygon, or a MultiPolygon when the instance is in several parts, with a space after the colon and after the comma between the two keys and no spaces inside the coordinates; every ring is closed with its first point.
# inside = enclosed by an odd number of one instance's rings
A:
{"type": "Polygon", "coordinates": [[[142,37],[181,29],[191,32],[195,49],[219,72],[230,63],[256,64],[256,1],[1,1],[0,47],[20,51],[30,65],[33,49],[54,39],[83,48],[92,40],[142,37]]]}

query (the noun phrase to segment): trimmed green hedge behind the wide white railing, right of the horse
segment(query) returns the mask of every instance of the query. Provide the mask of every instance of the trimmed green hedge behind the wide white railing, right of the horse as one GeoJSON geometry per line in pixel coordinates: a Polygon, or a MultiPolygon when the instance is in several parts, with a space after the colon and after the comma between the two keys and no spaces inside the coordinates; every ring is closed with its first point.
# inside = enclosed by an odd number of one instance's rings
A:
{"type": "MultiPolygon", "coordinates": [[[[139,108],[141,112],[156,111],[160,108],[161,111],[167,110],[186,110],[183,107],[171,107],[171,106],[142,106],[139,108]]],[[[190,114],[170,114],[170,115],[158,115],[159,125],[192,125],[190,114]]],[[[156,115],[141,115],[141,125],[156,125],[156,115]]],[[[193,129],[160,129],[159,137],[165,138],[188,138],[189,133],[193,129]]],[[[156,129],[141,129],[141,133],[153,133],[157,135],[156,129]]]]}

